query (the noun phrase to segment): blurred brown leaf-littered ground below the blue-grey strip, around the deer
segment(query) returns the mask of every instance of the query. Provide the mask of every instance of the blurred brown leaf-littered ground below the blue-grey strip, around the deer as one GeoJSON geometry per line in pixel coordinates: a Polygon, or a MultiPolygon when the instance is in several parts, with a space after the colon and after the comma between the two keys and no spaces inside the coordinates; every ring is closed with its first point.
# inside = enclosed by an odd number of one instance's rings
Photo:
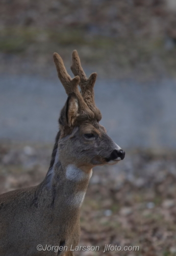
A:
{"type": "MultiPolygon", "coordinates": [[[[37,185],[44,178],[51,145],[2,142],[0,192],[37,185]]],[[[176,255],[175,154],[127,152],[116,166],[95,168],[81,215],[80,245],[99,251],[106,244],[140,246],[139,251],[111,251],[105,255],[176,255]]]]}

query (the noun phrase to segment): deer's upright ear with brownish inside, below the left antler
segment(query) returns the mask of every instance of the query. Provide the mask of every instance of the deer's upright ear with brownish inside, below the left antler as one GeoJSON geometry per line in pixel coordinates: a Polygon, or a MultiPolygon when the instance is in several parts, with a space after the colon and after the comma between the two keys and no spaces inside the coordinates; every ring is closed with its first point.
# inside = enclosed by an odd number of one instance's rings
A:
{"type": "Polygon", "coordinates": [[[68,126],[73,126],[78,116],[78,99],[72,96],[67,98],[66,102],[66,120],[68,126]]]}

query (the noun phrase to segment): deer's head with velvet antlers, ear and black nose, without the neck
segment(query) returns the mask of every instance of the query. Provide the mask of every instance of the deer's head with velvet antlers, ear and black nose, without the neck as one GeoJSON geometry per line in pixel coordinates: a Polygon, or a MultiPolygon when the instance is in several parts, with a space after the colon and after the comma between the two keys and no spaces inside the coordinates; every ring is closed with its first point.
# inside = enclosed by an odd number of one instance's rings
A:
{"type": "Polygon", "coordinates": [[[96,165],[115,164],[122,160],[124,151],[99,124],[102,115],[95,105],[93,90],[96,73],[86,77],[76,50],[72,53],[73,78],[68,75],[59,54],[54,53],[54,61],[58,77],[68,95],[59,118],[61,164],[66,167],[74,163],[87,170],[96,165]]]}

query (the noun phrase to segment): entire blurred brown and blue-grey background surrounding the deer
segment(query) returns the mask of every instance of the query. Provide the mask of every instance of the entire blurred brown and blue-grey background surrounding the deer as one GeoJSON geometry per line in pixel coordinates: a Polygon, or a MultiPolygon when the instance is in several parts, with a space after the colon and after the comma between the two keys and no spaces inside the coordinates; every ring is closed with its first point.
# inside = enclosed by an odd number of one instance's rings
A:
{"type": "MultiPolygon", "coordinates": [[[[97,72],[95,101],[125,159],[97,167],[80,245],[106,255],[176,255],[176,1],[1,0],[0,192],[44,178],[66,101],[53,53],[77,49],[97,72]]],[[[77,254],[76,254],[77,255],[77,254]]]]}

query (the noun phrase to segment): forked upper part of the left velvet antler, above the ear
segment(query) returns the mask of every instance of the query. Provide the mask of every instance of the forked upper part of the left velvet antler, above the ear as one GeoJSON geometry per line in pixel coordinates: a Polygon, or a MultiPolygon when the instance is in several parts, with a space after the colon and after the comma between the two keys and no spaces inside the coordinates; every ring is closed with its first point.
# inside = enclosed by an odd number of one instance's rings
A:
{"type": "Polygon", "coordinates": [[[62,58],[58,53],[55,52],[53,54],[53,58],[58,72],[58,77],[65,88],[66,94],[69,95],[72,92],[79,94],[80,92],[78,90],[78,84],[80,82],[80,77],[75,76],[73,79],[71,79],[70,75],[65,69],[62,58]]]}

